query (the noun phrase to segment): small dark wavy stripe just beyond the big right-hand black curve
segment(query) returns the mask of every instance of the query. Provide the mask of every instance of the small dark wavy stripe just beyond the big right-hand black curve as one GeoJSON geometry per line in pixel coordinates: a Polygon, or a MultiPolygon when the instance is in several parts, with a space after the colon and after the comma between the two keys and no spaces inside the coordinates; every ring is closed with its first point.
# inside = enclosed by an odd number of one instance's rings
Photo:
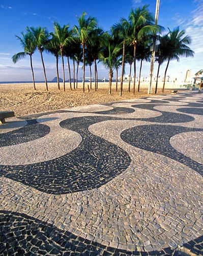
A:
{"type": "MultiPolygon", "coordinates": [[[[140,105],[133,105],[134,108],[139,109],[147,109],[147,110],[153,110],[156,112],[160,112],[161,116],[156,117],[150,117],[150,118],[140,118],[139,120],[148,121],[148,122],[160,122],[160,123],[181,123],[181,122],[191,122],[194,121],[194,118],[192,116],[188,116],[185,114],[179,114],[179,113],[171,113],[171,112],[165,112],[161,110],[156,110],[154,107],[159,106],[155,104],[140,104],[140,105]]],[[[162,105],[160,105],[162,106],[162,105]]]]}

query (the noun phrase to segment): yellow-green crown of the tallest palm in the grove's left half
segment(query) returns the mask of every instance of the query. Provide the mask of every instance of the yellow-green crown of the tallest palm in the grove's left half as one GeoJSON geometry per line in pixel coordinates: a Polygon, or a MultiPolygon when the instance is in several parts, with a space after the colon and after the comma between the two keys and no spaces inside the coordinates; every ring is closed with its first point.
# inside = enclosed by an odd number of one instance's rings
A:
{"type": "Polygon", "coordinates": [[[97,28],[97,19],[91,16],[85,18],[86,15],[87,13],[83,12],[80,17],[77,17],[78,26],[74,26],[74,32],[82,45],[88,41],[89,33],[97,28]]]}

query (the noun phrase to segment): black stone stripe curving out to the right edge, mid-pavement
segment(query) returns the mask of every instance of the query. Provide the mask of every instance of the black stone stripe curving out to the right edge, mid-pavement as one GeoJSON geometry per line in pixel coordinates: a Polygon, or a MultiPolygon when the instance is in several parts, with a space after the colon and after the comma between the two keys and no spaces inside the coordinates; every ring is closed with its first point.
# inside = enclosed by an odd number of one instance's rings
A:
{"type": "Polygon", "coordinates": [[[159,153],[176,160],[203,176],[203,165],[177,151],[169,142],[172,136],[195,131],[203,131],[203,129],[175,125],[140,125],[123,131],[121,133],[121,138],[135,147],[159,153]]]}

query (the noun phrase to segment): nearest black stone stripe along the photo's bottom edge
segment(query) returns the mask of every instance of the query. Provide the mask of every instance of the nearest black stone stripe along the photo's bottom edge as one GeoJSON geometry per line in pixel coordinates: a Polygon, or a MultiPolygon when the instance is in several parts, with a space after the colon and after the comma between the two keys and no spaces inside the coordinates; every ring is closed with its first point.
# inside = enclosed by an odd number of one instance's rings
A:
{"type": "MultiPolygon", "coordinates": [[[[198,255],[202,254],[203,236],[185,243],[183,247],[198,255]]],[[[0,211],[1,255],[172,255],[175,250],[140,252],[108,247],[57,228],[45,221],[25,214],[0,211]]],[[[178,255],[178,254],[176,254],[178,255]]]]}

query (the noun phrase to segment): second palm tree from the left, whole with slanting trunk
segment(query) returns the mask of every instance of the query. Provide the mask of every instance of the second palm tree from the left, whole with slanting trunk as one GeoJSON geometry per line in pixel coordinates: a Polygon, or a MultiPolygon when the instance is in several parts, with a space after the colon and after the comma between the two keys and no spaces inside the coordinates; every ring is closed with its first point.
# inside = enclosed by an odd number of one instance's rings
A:
{"type": "Polygon", "coordinates": [[[44,70],[46,90],[48,91],[46,71],[45,71],[42,52],[44,50],[44,46],[46,45],[46,43],[48,41],[49,34],[48,34],[46,28],[41,28],[41,27],[37,27],[37,28],[34,28],[34,27],[28,28],[27,27],[26,31],[31,34],[31,36],[33,37],[33,40],[35,42],[35,45],[36,45],[36,47],[38,48],[38,50],[40,52],[41,60],[42,60],[42,66],[43,66],[43,70],[44,70]]]}

